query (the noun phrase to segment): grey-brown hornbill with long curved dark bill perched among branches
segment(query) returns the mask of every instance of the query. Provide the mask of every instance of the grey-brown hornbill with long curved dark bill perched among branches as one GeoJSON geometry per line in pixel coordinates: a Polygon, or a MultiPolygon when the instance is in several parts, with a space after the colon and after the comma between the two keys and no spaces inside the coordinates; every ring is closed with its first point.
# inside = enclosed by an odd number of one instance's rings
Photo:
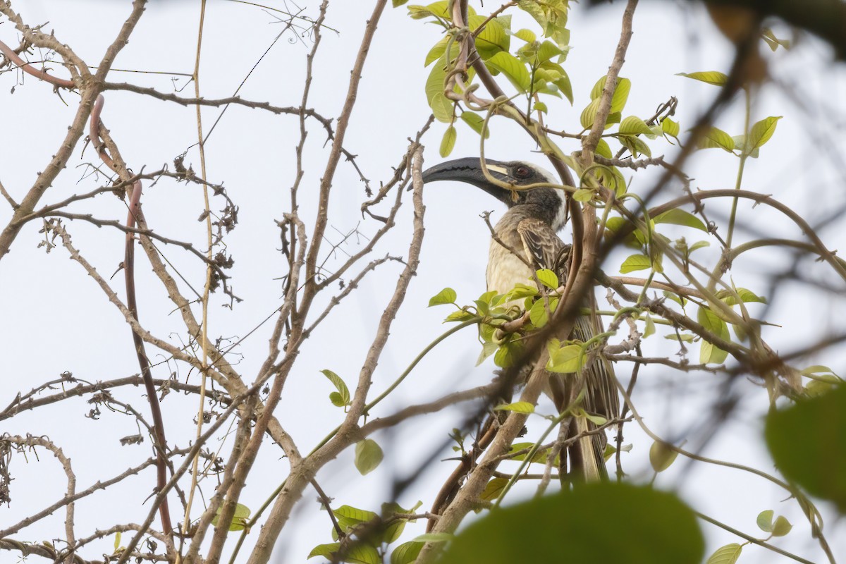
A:
{"type": "MultiPolygon", "coordinates": [[[[503,183],[527,186],[532,183],[558,183],[557,179],[541,167],[528,162],[498,162],[486,160],[488,173],[503,183]]],[[[423,172],[423,182],[451,180],[473,184],[497,200],[508,205],[502,219],[493,228],[494,237],[487,263],[487,290],[508,293],[514,285],[530,283],[535,272],[549,269],[558,275],[558,280],[567,280],[567,260],[570,246],[558,238],[558,230],[567,221],[564,193],[553,188],[509,190],[490,182],[482,172],[481,162],[476,157],[442,162],[423,172]],[[497,239],[503,244],[497,242],[497,239]],[[520,255],[520,256],[517,256],[520,255]]],[[[595,297],[591,294],[585,306],[590,311],[595,297]]],[[[579,315],[569,336],[559,336],[587,342],[602,332],[602,323],[596,315],[579,315]]],[[[585,366],[582,377],[575,374],[549,375],[547,394],[561,413],[566,408],[582,408],[586,413],[601,415],[611,420],[619,413],[619,399],[613,368],[607,359],[597,355],[591,364],[585,366]],[[584,390],[580,403],[574,401],[584,390]]],[[[584,416],[569,418],[569,437],[590,433],[596,429],[584,416]]],[[[570,458],[570,477],[573,479],[607,479],[605,468],[606,437],[603,431],[583,435],[562,452],[570,458]]],[[[562,464],[562,468],[565,463],[562,464]]]]}

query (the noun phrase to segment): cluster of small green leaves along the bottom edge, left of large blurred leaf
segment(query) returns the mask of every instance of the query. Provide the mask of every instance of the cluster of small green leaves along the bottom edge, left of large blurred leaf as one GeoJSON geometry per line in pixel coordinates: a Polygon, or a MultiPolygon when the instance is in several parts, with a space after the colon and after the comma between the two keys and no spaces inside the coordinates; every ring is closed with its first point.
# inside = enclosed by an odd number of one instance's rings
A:
{"type": "MultiPolygon", "coordinates": [[[[335,542],[317,545],[311,550],[309,558],[322,556],[330,561],[353,562],[354,564],[382,564],[391,545],[403,534],[405,523],[414,523],[407,516],[414,514],[422,502],[415,507],[404,509],[396,503],[383,503],[382,513],[366,511],[357,507],[341,506],[332,509],[332,515],[338,522],[338,528],[332,527],[332,539],[335,542]],[[398,517],[404,515],[406,517],[398,517]]],[[[432,535],[420,535],[409,542],[391,550],[391,564],[409,564],[415,561],[420,549],[432,535]]]]}

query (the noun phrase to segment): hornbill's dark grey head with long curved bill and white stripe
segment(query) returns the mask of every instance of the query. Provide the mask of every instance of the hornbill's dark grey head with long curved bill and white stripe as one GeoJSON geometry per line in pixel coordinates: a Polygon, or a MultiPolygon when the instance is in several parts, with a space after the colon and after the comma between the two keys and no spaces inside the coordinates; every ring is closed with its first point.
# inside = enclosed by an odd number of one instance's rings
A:
{"type": "MultiPolygon", "coordinates": [[[[485,164],[493,178],[516,187],[534,183],[559,183],[552,172],[530,162],[501,162],[486,159],[485,164]]],[[[479,158],[475,156],[442,162],[423,172],[423,182],[437,180],[473,184],[508,205],[509,208],[516,205],[528,205],[532,208],[532,216],[547,222],[556,231],[564,227],[564,223],[567,222],[567,203],[562,190],[554,188],[504,189],[485,178],[479,158]]]]}

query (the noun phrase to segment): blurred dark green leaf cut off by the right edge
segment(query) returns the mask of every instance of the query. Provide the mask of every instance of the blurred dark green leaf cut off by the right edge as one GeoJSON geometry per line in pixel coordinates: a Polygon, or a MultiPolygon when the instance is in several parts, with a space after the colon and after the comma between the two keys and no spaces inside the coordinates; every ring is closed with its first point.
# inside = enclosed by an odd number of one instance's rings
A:
{"type": "Polygon", "coordinates": [[[846,513],[846,386],[771,411],[765,435],[785,477],[846,513]]]}

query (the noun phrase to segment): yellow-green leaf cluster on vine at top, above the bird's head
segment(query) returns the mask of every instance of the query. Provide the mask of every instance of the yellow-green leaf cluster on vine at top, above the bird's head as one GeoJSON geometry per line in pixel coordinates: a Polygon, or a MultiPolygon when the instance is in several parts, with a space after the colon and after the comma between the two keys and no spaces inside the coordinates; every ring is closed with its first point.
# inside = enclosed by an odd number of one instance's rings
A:
{"type": "MultiPolygon", "coordinates": [[[[394,5],[401,3],[394,2],[394,5]]],[[[461,32],[473,34],[475,50],[486,68],[491,74],[502,74],[508,79],[514,90],[525,96],[533,111],[547,112],[547,105],[536,100],[535,95],[563,96],[572,104],[573,87],[562,66],[569,52],[569,30],[566,27],[568,0],[548,0],[544,3],[520,0],[517,6],[541,26],[543,38],[538,38],[531,30],[512,30],[509,14],[488,18],[476,14],[471,7],[468,7],[467,30],[461,32]],[[514,53],[511,52],[512,37],[520,41],[514,53]]],[[[448,123],[440,147],[441,156],[448,156],[458,136],[456,119],[460,118],[470,129],[477,134],[484,134],[486,138],[489,131],[485,129],[485,120],[479,113],[462,107],[444,93],[447,78],[453,71],[459,53],[459,32],[451,29],[452,14],[448,1],[440,0],[426,6],[413,5],[408,9],[411,18],[432,19],[447,30],[446,35],[426,54],[425,66],[434,63],[426,80],[426,101],[435,118],[448,123]]],[[[469,68],[465,89],[472,85],[474,76],[473,69],[469,68]]],[[[455,91],[460,93],[461,87],[456,85],[455,91]]]]}

